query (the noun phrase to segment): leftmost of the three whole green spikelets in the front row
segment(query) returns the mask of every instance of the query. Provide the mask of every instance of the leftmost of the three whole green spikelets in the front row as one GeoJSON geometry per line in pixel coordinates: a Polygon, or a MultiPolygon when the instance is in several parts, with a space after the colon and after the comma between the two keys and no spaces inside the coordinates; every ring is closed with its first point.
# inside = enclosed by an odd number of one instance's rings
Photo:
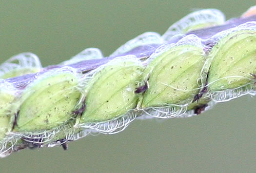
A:
{"type": "Polygon", "coordinates": [[[80,98],[78,79],[71,73],[60,73],[27,86],[21,100],[16,131],[33,132],[58,127],[74,115],[80,98]]]}

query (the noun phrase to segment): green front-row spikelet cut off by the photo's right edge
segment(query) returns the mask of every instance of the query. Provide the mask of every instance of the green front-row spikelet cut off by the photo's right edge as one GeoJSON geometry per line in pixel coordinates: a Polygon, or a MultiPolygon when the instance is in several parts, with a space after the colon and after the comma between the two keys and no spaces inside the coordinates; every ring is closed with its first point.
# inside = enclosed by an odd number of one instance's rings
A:
{"type": "Polygon", "coordinates": [[[209,90],[224,91],[248,83],[256,73],[256,31],[242,30],[222,38],[211,50],[209,90]]]}

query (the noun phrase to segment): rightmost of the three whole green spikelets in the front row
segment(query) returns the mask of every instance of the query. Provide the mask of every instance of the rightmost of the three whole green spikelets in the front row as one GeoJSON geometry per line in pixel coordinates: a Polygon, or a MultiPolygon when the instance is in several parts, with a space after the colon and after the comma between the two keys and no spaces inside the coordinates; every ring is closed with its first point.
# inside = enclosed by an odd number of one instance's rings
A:
{"type": "Polygon", "coordinates": [[[192,101],[199,91],[197,79],[204,59],[203,49],[192,45],[173,47],[155,58],[145,70],[149,87],[142,108],[192,101]]]}

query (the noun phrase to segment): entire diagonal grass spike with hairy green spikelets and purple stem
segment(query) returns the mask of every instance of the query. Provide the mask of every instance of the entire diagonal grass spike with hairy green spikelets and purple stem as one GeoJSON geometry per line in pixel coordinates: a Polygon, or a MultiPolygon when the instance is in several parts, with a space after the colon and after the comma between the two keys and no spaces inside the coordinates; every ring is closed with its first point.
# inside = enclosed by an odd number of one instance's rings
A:
{"type": "MultiPolygon", "coordinates": [[[[254,14],[252,7],[239,19],[254,14]]],[[[0,156],[26,147],[66,149],[66,142],[91,133],[121,132],[137,117],[189,117],[255,95],[256,21],[204,38],[189,34],[230,21],[216,9],[200,10],[162,36],[147,32],[128,41],[108,58],[97,48],[46,68],[32,53],[10,58],[0,65],[0,156]],[[129,54],[138,47],[143,51],[129,54]],[[154,48],[150,55],[147,47],[154,48]]]]}

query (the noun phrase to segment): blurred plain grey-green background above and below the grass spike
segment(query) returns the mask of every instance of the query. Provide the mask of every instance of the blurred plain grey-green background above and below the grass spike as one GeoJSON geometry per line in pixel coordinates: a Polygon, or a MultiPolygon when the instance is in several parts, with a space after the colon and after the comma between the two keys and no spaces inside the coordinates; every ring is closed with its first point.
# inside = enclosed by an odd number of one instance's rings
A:
{"type": "MultiPolygon", "coordinates": [[[[163,34],[188,13],[217,8],[240,16],[244,0],[6,0],[0,2],[0,63],[33,52],[57,64],[88,47],[105,56],[146,31],[163,34]]],[[[0,159],[0,173],[255,172],[256,98],[221,103],[202,115],[136,120],[117,135],[86,136],[61,147],[0,159]]]]}

